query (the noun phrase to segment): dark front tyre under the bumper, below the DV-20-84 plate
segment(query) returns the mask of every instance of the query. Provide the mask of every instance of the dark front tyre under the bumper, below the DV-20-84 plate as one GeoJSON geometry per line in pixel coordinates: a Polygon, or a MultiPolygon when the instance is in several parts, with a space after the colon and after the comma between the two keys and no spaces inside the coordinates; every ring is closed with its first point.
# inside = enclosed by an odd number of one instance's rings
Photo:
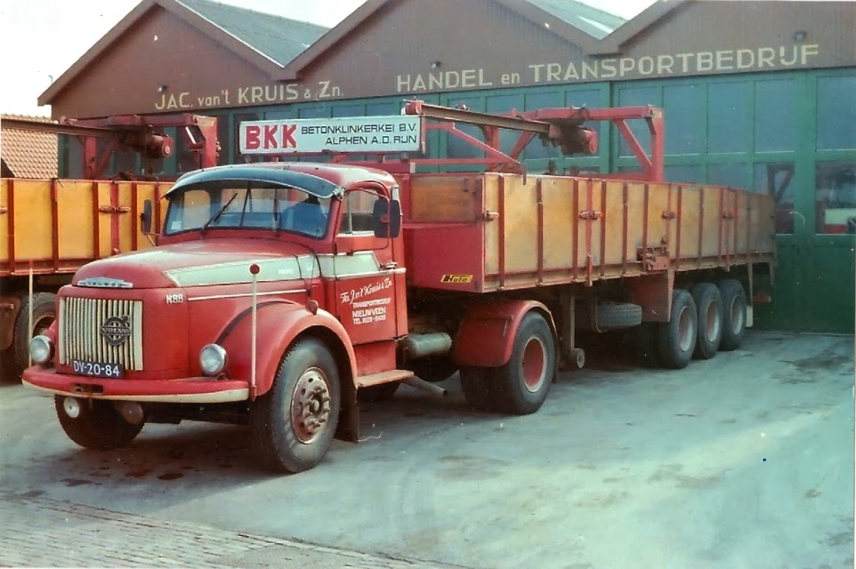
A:
{"type": "Polygon", "coordinates": [[[65,399],[53,397],[56,416],[65,434],[84,448],[105,450],[128,445],[145,424],[125,421],[112,402],[100,399],[78,400],[77,417],[72,417],[65,409],[65,399]]]}

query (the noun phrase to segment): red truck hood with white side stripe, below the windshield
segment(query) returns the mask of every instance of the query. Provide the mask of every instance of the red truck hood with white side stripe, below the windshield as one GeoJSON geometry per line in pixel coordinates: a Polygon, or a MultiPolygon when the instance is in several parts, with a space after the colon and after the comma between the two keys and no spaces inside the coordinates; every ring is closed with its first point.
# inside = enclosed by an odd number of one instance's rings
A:
{"type": "Polygon", "coordinates": [[[96,260],[80,268],[72,284],[145,289],[249,283],[253,264],[260,268],[259,282],[318,276],[314,253],[302,245],[206,239],[96,260]]]}

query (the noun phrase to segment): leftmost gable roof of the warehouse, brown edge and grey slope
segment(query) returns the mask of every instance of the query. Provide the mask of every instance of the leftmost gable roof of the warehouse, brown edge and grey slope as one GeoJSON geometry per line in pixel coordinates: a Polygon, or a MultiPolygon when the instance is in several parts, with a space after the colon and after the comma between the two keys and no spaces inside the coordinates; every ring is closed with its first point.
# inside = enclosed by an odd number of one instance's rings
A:
{"type": "Polygon", "coordinates": [[[74,78],[107,52],[125,32],[152,10],[171,12],[256,68],[275,75],[324,36],[327,28],[282,16],[246,10],[211,0],[142,0],[38,98],[49,105],[74,78]]]}

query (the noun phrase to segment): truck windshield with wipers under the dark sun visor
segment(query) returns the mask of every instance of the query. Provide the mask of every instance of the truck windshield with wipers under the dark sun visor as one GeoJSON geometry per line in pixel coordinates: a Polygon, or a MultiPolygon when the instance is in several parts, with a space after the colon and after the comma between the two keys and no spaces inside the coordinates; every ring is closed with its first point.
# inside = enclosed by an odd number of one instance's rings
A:
{"type": "Polygon", "coordinates": [[[320,239],[327,235],[330,199],[299,188],[261,182],[208,182],[170,196],[164,234],[209,228],[263,228],[320,239]]]}

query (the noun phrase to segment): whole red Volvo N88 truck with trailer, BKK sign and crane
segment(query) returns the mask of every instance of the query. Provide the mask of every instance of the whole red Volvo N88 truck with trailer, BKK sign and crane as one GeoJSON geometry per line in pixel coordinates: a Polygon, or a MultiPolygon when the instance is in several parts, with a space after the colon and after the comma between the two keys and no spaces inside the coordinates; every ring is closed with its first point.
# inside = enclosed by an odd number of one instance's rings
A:
{"type": "Polygon", "coordinates": [[[534,413],[558,365],[584,364],[577,330],[641,327],[670,368],[736,349],[755,271],[774,261],[771,197],[662,181],[657,108],[493,116],[411,101],[401,116],[239,130],[246,155],[325,162],[186,174],[157,247],[61,289],[24,382],[55,396],[78,445],[125,445],[149,421],[240,422],[262,461],[297,472],[335,436],[359,439],[360,399],[456,372],[472,407],[534,413]],[[598,120],[640,171],[525,171],[536,138],[594,153],[585,124],[598,120]],[[650,156],[630,120],[647,125],[650,156]],[[432,131],[478,156],[420,157],[432,131]]]}

